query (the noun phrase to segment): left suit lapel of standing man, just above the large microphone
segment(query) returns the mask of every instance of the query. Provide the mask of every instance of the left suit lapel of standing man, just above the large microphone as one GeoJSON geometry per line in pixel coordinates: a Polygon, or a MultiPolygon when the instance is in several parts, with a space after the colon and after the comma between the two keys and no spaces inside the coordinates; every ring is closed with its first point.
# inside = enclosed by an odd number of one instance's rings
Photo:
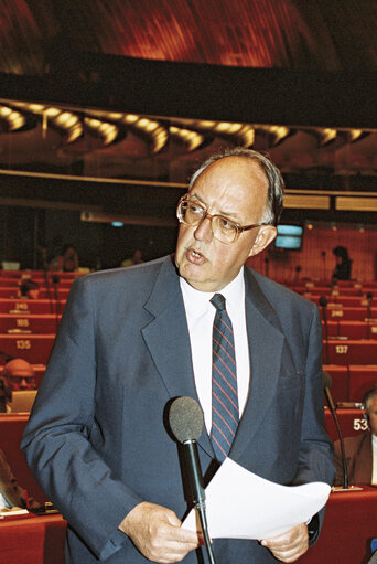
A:
{"type": "MultiPolygon", "coordinates": [[[[190,396],[200,404],[185,309],[172,257],[163,264],[144,308],[153,319],[141,332],[169,396],[171,398],[190,396]]],[[[198,444],[213,456],[205,425],[198,444]]]]}

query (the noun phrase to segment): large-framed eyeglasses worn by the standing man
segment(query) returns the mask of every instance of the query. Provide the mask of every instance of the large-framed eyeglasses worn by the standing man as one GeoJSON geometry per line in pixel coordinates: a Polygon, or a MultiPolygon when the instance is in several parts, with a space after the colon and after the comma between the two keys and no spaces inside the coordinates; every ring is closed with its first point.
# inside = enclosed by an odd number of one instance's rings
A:
{"type": "Polygon", "coordinates": [[[240,233],[244,231],[265,225],[263,223],[255,223],[254,225],[238,225],[224,215],[212,215],[205,207],[203,207],[203,205],[194,202],[193,200],[188,200],[187,194],[183,195],[179,201],[176,207],[176,217],[179,219],[180,223],[191,226],[198,225],[203,220],[208,217],[211,221],[211,228],[214,237],[226,244],[235,243],[240,233]]]}

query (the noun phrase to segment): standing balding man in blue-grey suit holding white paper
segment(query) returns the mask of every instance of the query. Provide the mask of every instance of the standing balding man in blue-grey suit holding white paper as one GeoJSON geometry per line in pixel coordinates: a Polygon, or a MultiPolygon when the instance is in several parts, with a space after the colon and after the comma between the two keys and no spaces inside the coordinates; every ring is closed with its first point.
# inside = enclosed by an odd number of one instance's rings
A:
{"type": "MultiPolygon", "coordinates": [[[[316,306],[244,267],[276,236],[282,180],[234,149],[196,171],[181,199],[175,256],[96,273],[72,288],[22,448],[68,521],[66,562],[207,562],[187,510],[172,398],[200,402],[202,469],[216,462],[209,299],[222,292],[235,337],[239,425],[229,456],[283,485],[334,477],[323,423],[316,306]]],[[[293,562],[322,522],[260,542],[215,539],[217,564],[293,562]]]]}

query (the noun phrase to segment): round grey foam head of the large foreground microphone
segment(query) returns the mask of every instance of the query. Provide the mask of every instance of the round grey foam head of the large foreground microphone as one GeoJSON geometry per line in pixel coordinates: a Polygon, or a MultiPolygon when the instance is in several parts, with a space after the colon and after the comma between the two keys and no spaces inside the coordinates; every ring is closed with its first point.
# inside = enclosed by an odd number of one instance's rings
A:
{"type": "Polygon", "coordinates": [[[169,424],[179,443],[197,440],[203,428],[203,413],[192,397],[177,397],[169,411],[169,424]]]}

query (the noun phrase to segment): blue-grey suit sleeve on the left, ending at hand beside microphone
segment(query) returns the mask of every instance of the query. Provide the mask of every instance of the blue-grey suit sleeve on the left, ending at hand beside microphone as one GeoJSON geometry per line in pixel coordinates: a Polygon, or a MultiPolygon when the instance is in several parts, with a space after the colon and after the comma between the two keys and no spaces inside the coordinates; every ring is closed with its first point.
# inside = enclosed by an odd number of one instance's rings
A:
{"type": "MultiPolygon", "coordinates": [[[[21,448],[42,489],[98,557],[127,536],[118,531],[139,496],[95,448],[96,300],[87,279],[71,290],[21,448]]],[[[112,429],[121,434],[120,428],[112,429]]]]}

